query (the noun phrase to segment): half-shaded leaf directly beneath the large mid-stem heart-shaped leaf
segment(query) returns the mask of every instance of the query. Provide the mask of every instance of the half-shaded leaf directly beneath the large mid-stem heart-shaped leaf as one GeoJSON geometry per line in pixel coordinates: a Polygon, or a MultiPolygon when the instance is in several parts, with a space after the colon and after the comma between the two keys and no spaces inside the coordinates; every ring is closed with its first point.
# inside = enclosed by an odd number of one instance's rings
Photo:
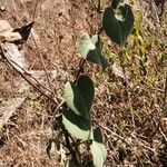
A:
{"type": "Polygon", "coordinates": [[[76,115],[71,110],[62,112],[62,124],[68,132],[78,139],[87,140],[90,136],[90,120],[76,115]]]}

